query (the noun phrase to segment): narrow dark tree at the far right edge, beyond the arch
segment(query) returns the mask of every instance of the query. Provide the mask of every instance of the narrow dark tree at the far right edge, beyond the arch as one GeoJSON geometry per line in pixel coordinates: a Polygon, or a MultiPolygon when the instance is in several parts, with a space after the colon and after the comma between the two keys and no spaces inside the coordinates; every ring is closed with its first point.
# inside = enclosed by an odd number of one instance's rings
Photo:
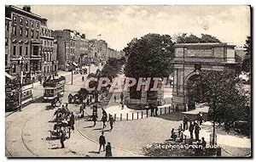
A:
{"type": "Polygon", "coordinates": [[[251,53],[252,53],[252,47],[251,47],[251,36],[247,36],[247,41],[246,44],[244,45],[244,47],[246,48],[245,52],[245,57],[244,60],[241,64],[241,70],[245,71],[245,72],[250,72],[251,73],[251,53]]]}

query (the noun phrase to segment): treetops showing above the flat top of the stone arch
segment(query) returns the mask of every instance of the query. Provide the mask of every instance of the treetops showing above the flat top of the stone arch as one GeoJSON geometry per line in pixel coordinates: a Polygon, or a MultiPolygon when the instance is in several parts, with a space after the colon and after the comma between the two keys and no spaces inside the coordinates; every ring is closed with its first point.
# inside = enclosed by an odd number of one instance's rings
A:
{"type": "Polygon", "coordinates": [[[187,33],[179,34],[175,37],[177,43],[199,43],[199,42],[220,42],[216,36],[201,34],[201,37],[187,33]]]}

